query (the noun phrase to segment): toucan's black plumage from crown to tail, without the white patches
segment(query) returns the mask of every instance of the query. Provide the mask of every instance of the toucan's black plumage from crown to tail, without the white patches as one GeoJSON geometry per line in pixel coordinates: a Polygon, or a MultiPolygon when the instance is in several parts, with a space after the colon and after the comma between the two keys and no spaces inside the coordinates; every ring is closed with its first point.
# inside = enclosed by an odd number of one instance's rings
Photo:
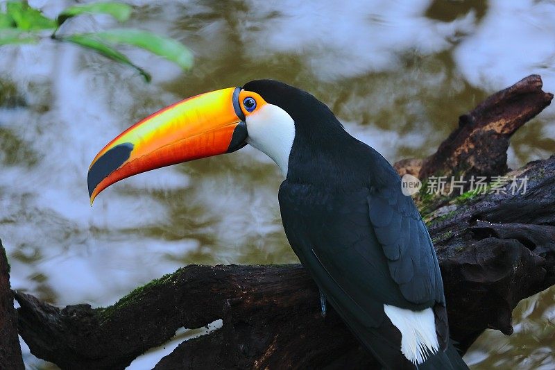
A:
{"type": "Polygon", "coordinates": [[[295,122],[286,180],[279,192],[287,238],[318,287],[386,368],[413,369],[384,304],[432,308],[440,351],[420,369],[466,368],[448,344],[438,261],[412,199],[393,167],[349,135],[325,104],[278,81],[244,90],[285,110],[295,122]],[[449,351],[443,352],[447,346],[449,351]]]}

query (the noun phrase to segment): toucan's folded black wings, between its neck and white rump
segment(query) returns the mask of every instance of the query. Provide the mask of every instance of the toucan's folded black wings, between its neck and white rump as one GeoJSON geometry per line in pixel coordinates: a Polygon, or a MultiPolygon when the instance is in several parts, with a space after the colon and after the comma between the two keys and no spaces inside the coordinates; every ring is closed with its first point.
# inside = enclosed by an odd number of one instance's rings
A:
{"type": "Polygon", "coordinates": [[[437,329],[443,337],[447,326],[436,255],[400,186],[398,196],[375,188],[327,192],[286,180],[280,187],[284,228],[318,287],[359,337],[361,329],[354,326],[383,325],[384,303],[411,310],[439,304],[443,327],[437,329]]]}

